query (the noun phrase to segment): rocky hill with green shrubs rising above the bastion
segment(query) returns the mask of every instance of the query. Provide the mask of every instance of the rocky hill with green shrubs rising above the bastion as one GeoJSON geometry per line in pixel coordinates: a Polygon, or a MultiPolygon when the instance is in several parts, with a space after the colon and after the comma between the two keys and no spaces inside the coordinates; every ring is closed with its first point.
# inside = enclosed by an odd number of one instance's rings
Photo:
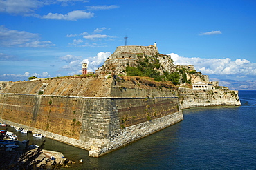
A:
{"type": "Polygon", "coordinates": [[[197,81],[209,82],[208,76],[196,72],[193,65],[174,65],[171,56],[159,54],[154,45],[117,47],[95,73],[147,76],[156,81],[169,81],[174,85],[188,85],[197,81]]]}

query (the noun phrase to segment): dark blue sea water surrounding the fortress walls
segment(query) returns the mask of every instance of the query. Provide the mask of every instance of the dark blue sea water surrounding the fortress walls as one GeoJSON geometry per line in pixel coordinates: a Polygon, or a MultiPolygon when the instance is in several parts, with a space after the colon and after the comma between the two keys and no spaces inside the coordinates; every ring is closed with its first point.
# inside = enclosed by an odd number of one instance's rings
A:
{"type": "MultiPolygon", "coordinates": [[[[237,107],[185,109],[180,123],[100,158],[48,138],[44,148],[83,160],[69,169],[256,169],[256,91],[239,91],[239,98],[237,107]]],[[[15,133],[19,140],[42,143],[32,134],[15,133]]]]}

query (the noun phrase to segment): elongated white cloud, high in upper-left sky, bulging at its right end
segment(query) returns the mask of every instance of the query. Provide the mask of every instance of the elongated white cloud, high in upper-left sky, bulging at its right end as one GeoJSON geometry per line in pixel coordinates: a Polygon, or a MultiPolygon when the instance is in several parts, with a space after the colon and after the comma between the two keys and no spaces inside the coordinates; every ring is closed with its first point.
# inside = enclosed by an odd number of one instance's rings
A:
{"type": "Polygon", "coordinates": [[[42,19],[57,19],[57,20],[68,20],[68,21],[77,21],[77,19],[89,19],[94,17],[94,13],[84,12],[82,10],[74,10],[68,12],[67,14],[58,14],[58,13],[48,13],[44,15],[42,19]]]}

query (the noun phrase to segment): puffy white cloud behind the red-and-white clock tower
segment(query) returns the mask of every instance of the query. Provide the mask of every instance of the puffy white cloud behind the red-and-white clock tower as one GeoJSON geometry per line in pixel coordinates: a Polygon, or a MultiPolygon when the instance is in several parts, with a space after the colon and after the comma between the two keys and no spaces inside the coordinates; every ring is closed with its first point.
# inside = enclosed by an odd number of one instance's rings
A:
{"type": "Polygon", "coordinates": [[[62,69],[70,71],[69,75],[81,74],[82,63],[88,63],[88,72],[95,72],[110,55],[110,52],[99,52],[97,56],[87,59],[82,59],[81,56],[66,55],[64,58],[62,57],[62,60],[66,61],[68,65],[64,65],[62,69]]]}

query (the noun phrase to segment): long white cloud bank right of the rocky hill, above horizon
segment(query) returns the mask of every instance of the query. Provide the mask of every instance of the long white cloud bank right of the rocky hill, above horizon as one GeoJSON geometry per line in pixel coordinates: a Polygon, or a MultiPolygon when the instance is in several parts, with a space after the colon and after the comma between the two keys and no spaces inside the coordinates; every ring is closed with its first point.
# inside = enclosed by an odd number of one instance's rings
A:
{"type": "Polygon", "coordinates": [[[246,59],[201,59],[184,57],[171,53],[175,65],[194,65],[197,71],[207,75],[256,76],[256,63],[246,59]]]}

